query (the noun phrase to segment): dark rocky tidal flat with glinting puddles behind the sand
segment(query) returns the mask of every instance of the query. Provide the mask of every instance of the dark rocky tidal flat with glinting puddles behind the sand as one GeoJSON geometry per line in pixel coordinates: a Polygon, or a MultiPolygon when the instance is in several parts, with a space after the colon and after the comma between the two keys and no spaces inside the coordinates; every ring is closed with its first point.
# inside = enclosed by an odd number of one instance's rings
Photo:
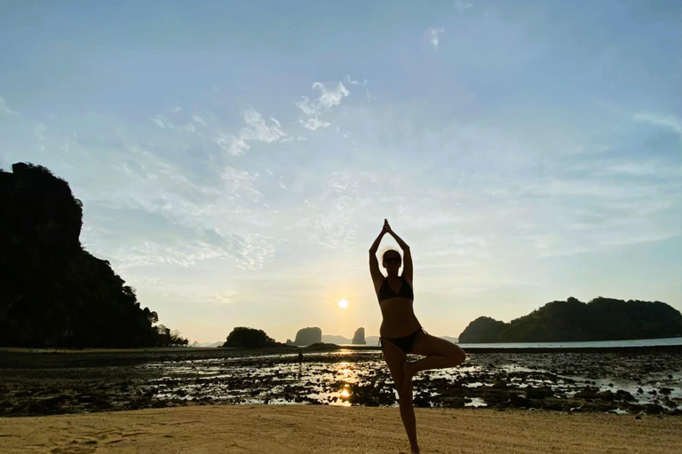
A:
{"type": "MultiPolygon", "coordinates": [[[[397,405],[380,351],[306,351],[303,364],[295,351],[0,352],[0,415],[240,403],[397,405]]],[[[470,353],[458,368],[418,374],[414,395],[418,407],[682,415],[682,351],[470,353]]]]}

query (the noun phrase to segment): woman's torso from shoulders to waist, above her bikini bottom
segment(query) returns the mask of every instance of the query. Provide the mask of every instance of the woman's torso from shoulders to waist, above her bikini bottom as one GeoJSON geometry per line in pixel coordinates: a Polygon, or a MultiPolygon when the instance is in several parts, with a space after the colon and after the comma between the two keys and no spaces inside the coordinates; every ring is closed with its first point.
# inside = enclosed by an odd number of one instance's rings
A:
{"type": "Polygon", "coordinates": [[[422,326],[415,317],[413,301],[405,296],[406,294],[412,294],[411,288],[412,283],[400,276],[384,278],[383,281],[375,283],[377,297],[379,294],[384,296],[390,295],[385,300],[379,301],[381,315],[383,316],[381,328],[379,328],[381,336],[402,337],[421,329],[422,326]],[[391,292],[388,292],[386,289],[384,289],[384,292],[381,292],[382,286],[389,286],[391,292]],[[409,287],[403,288],[402,286],[409,287]]]}

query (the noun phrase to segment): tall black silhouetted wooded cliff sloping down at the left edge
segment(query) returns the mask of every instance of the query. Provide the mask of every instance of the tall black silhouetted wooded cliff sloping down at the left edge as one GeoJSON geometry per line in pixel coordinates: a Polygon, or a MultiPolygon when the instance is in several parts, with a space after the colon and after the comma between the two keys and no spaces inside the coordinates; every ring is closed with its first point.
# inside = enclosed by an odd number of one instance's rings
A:
{"type": "Polygon", "coordinates": [[[83,204],[32,164],[0,170],[0,345],[186,345],[141,308],[109,262],[83,250],[83,204]]]}

